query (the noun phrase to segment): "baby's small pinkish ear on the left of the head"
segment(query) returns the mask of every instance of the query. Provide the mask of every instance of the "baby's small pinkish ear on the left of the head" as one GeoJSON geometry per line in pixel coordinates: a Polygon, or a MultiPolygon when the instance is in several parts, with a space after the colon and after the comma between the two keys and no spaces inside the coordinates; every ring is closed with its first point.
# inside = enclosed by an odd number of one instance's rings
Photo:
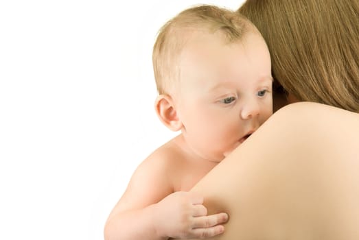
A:
{"type": "Polygon", "coordinates": [[[173,99],[170,95],[161,94],[154,102],[154,109],[161,122],[170,130],[181,130],[182,122],[178,117],[173,99]]]}

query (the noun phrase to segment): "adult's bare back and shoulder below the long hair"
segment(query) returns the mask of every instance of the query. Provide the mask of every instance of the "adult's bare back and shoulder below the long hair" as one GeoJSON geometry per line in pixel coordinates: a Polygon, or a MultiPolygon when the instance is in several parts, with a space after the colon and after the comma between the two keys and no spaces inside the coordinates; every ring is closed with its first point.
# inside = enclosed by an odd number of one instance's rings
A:
{"type": "Polygon", "coordinates": [[[359,115],[282,108],[192,191],[229,213],[213,239],[359,239],[359,115]]]}

